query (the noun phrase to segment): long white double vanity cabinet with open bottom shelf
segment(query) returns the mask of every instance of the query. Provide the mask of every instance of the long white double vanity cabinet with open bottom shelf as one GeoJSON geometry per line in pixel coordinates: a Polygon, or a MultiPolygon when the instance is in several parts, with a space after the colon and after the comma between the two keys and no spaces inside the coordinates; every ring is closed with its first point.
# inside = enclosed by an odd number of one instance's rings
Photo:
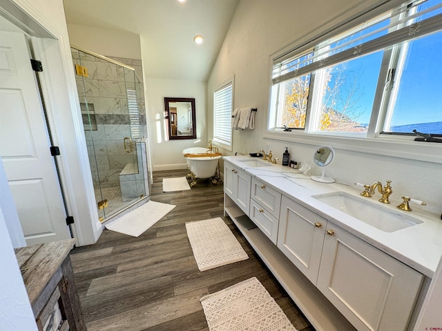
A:
{"type": "Polygon", "coordinates": [[[413,330],[427,277],[309,208],[311,192],[285,194],[280,177],[251,178],[232,162],[224,159],[224,213],[316,330],[413,330]]]}

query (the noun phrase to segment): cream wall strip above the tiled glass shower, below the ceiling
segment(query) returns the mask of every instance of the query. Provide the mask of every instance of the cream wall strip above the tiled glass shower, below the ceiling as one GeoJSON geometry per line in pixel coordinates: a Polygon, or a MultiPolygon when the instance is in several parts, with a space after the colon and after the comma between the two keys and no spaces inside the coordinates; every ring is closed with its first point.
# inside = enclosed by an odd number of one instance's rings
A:
{"type": "Polygon", "coordinates": [[[73,46],[104,56],[141,59],[138,34],[77,24],[68,24],[68,31],[70,44],[73,46]]]}

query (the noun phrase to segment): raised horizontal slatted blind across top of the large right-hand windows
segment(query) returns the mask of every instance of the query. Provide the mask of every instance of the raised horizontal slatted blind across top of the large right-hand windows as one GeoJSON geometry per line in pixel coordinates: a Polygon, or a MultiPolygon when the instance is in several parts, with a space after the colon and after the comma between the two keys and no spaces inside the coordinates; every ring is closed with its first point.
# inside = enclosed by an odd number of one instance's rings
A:
{"type": "Polygon", "coordinates": [[[442,3],[419,1],[400,6],[349,32],[318,43],[315,50],[294,50],[273,61],[272,82],[277,84],[361,57],[398,43],[442,30],[442,3]],[[425,6],[427,5],[427,6],[425,6]]]}

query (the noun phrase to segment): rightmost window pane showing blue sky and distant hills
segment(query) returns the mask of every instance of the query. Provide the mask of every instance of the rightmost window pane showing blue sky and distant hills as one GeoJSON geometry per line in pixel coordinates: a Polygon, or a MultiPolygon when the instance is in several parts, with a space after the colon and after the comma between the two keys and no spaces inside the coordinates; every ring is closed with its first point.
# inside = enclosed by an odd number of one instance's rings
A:
{"type": "Polygon", "coordinates": [[[390,98],[383,132],[442,134],[442,32],[410,41],[398,55],[394,95],[390,98]],[[425,59],[425,61],[422,61],[425,59]],[[436,63],[439,63],[437,65],[436,63]]]}

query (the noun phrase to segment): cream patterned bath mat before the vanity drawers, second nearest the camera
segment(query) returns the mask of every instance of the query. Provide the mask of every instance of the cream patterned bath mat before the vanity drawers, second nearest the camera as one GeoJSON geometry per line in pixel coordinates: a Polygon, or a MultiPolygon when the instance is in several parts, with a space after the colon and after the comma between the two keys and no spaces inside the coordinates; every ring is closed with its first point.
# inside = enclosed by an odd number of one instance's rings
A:
{"type": "Polygon", "coordinates": [[[249,259],[222,218],[186,223],[187,237],[200,271],[249,259]]]}

